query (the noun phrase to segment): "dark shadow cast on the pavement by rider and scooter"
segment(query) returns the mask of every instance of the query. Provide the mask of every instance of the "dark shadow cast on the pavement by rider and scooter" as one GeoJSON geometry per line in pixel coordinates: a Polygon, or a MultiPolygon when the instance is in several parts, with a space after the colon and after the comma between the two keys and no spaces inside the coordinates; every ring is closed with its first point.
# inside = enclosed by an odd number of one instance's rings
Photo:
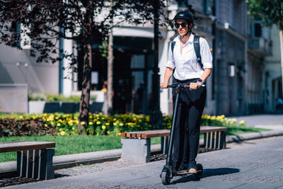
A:
{"type": "MultiPolygon", "coordinates": [[[[204,173],[202,175],[202,178],[206,178],[209,176],[222,176],[222,175],[228,175],[228,174],[233,174],[233,173],[238,173],[238,172],[240,172],[240,169],[238,168],[204,168],[204,173]]],[[[171,184],[186,183],[189,181],[200,181],[201,179],[195,178],[194,175],[188,175],[188,176],[179,178],[176,181],[173,181],[171,184]]]]}

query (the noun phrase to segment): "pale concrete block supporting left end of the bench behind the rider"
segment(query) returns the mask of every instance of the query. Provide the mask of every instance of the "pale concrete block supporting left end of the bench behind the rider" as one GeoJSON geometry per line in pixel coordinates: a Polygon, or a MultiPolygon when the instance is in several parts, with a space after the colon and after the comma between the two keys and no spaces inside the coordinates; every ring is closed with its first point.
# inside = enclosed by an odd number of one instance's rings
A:
{"type": "Polygon", "coordinates": [[[151,156],[150,139],[121,139],[122,156],[121,159],[147,163],[151,156]]]}

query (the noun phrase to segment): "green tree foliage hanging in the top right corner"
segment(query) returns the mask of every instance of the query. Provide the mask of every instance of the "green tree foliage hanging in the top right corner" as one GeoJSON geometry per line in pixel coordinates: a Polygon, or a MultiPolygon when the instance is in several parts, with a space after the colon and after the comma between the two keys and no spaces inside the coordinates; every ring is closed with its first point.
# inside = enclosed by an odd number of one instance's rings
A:
{"type": "Polygon", "coordinates": [[[249,12],[255,20],[262,20],[264,25],[276,24],[283,29],[282,0],[248,0],[249,12]]]}

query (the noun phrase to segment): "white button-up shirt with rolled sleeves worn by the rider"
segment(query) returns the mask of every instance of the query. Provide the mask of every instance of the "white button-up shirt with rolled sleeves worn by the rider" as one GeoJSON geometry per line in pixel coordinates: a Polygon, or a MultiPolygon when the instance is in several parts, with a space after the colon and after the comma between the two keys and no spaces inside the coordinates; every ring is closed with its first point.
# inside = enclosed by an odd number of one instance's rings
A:
{"type": "Polygon", "coordinates": [[[175,41],[175,47],[172,53],[171,43],[169,45],[168,60],[166,67],[175,69],[174,78],[178,80],[195,79],[202,76],[206,68],[212,68],[212,52],[210,52],[207,40],[200,38],[200,56],[202,57],[203,69],[197,62],[197,56],[194,49],[194,35],[191,33],[189,40],[183,45],[183,55],[180,52],[180,35],[175,41]]]}

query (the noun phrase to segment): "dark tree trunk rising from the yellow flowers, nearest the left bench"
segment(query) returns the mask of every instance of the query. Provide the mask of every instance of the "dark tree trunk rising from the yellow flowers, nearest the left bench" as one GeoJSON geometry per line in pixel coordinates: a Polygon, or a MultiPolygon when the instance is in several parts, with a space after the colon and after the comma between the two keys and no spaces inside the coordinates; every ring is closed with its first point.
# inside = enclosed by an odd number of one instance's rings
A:
{"type": "MultiPolygon", "coordinates": [[[[89,99],[91,94],[91,44],[85,45],[83,57],[83,82],[81,87],[81,103],[79,108],[79,134],[82,127],[88,127],[89,99]]],[[[88,132],[86,134],[89,134],[88,132]]]]}

